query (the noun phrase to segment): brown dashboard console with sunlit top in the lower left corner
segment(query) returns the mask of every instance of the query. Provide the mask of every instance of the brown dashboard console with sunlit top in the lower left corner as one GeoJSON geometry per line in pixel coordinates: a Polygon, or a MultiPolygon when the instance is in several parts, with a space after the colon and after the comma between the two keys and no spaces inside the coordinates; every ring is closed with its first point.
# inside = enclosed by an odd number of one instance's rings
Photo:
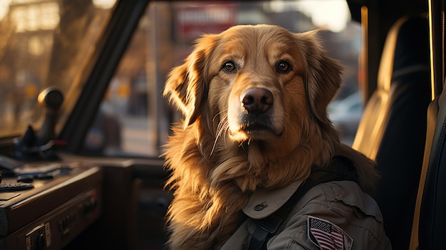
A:
{"type": "Polygon", "coordinates": [[[2,179],[0,249],[62,249],[100,216],[100,167],[42,162],[33,170],[35,178],[26,182],[20,172],[2,179]],[[17,184],[24,186],[14,188],[17,184]]]}

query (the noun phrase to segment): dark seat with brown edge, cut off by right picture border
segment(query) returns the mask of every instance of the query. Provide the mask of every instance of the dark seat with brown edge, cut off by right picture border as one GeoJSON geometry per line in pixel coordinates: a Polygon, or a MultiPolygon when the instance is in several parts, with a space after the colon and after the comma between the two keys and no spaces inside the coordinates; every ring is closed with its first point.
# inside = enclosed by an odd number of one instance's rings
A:
{"type": "Polygon", "coordinates": [[[410,249],[445,249],[446,90],[429,106],[425,162],[410,249]],[[421,202],[420,202],[421,201],[421,202]]]}

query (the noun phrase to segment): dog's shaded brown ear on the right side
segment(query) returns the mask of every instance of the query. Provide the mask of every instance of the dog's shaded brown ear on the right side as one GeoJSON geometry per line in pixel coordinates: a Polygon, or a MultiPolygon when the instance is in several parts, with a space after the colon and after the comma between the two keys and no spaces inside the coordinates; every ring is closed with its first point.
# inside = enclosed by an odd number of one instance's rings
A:
{"type": "Polygon", "coordinates": [[[327,120],[328,103],[341,87],[341,65],[328,57],[321,46],[316,31],[296,33],[307,61],[306,90],[313,115],[320,121],[327,120]]]}

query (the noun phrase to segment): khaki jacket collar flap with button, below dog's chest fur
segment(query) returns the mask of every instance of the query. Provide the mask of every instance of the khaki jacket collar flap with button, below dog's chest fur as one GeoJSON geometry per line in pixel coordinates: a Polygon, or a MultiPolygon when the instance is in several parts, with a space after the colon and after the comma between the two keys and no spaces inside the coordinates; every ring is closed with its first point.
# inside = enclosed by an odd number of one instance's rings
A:
{"type": "Polygon", "coordinates": [[[242,209],[244,214],[252,219],[263,219],[279,209],[301,186],[303,180],[292,182],[279,189],[259,188],[251,195],[248,203],[242,209]]]}

